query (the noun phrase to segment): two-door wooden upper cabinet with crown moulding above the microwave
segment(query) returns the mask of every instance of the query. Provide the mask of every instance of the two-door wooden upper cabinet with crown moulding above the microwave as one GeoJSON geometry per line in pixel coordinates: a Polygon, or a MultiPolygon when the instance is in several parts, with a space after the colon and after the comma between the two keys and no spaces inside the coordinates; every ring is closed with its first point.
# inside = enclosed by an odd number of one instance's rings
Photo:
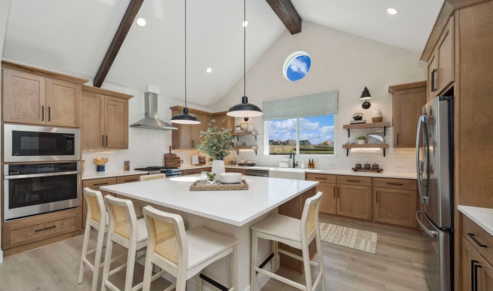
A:
{"type": "Polygon", "coordinates": [[[87,79],[2,61],[3,121],[79,127],[87,79]]]}

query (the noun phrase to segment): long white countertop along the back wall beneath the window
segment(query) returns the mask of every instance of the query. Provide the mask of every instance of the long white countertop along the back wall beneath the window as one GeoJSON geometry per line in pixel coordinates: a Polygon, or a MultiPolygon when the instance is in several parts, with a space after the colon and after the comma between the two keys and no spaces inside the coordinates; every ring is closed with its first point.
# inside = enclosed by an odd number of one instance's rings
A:
{"type": "MultiPolygon", "coordinates": [[[[181,170],[190,170],[190,169],[201,169],[201,168],[210,168],[212,165],[203,165],[203,166],[181,166],[181,170]]],[[[386,172],[383,171],[381,173],[374,172],[354,172],[352,170],[329,170],[329,169],[301,169],[301,168],[279,168],[275,166],[263,166],[263,165],[255,165],[255,166],[238,166],[238,165],[225,165],[226,168],[230,169],[249,169],[249,170],[275,170],[275,171],[289,171],[289,172],[305,172],[305,173],[314,173],[314,174],[331,174],[331,175],[350,175],[350,176],[360,176],[360,177],[377,177],[377,178],[397,178],[397,179],[416,179],[416,173],[401,173],[401,172],[386,172]]]]}

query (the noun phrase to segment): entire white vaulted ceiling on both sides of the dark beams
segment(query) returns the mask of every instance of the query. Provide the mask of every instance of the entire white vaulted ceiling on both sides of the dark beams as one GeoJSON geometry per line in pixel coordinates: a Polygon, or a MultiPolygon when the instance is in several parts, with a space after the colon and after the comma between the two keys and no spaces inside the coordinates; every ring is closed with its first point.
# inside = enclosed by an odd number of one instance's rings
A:
{"type": "MultiPolygon", "coordinates": [[[[421,52],[443,0],[292,0],[304,21],[421,52]],[[387,7],[399,9],[388,15],[387,7]]],[[[12,0],[3,58],[92,79],[129,0],[12,0]]],[[[247,69],[285,32],[247,0],[247,69]]],[[[184,98],[183,0],[145,0],[106,82],[184,98]]],[[[243,1],[188,0],[188,101],[214,107],[243,76],[243,1]],[[206,73],[208,67],[212,73],[206,73]]],[[[280,64],[282,66],[282,64],[280,64]]],[[[240,96],[239,96],[240,97],[240,96]]]]}

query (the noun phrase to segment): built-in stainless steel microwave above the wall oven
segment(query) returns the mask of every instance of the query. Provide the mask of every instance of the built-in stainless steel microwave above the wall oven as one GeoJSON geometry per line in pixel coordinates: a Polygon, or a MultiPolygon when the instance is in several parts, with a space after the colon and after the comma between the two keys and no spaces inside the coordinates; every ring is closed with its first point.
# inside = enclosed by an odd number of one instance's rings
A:
{"type": "Polygon", "coordinates": [[[80,130],[34,125],[3,126],[3,161],[80,160],[80,130]]]}

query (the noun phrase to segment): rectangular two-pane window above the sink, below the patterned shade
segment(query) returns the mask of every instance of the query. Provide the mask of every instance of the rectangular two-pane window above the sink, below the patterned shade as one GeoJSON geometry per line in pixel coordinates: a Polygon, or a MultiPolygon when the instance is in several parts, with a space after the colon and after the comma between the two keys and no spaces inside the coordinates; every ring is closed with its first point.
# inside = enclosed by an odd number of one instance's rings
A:
{"type": "Polygon", "coordinates": [[[265,154],[334,154],[334,114],[265,123],[265,154]]]}

